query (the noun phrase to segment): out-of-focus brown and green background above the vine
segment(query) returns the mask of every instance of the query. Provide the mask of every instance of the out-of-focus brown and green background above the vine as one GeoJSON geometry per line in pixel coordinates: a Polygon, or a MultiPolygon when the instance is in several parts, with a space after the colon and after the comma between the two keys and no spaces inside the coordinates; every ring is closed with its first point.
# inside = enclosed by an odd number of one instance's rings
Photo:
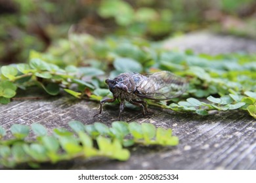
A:
{"type": "Polygon", "coordinates": [[[26,62],[70,31],[161,41],[202,29],[256,39],[256,1],[0,0],[0,65],[26,62]]]}

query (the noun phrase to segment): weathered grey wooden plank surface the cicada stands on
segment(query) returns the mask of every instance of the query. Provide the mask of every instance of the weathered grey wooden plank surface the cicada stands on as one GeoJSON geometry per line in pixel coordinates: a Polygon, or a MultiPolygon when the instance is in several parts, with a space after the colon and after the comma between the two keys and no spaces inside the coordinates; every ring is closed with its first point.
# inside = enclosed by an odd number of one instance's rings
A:
{"type": "MultiPolygon", "coordinates": [[[[37,95],[43,97],[41,93],[37,95]]],[[[98,112],[98,103],[79,101],[68,95],[43,97],[0,105],[0,125],[5,129],[12,124],[33,123],[43,124],[48,129],[68,128],[70,120],[111,125],[117,120],[118,110],[117,105],[105,105],[102,114],[93,118],[98,112]]],[[[256,169],[255,119],[245,111],[198,116],[150,107],[150,114],[144,117],[140,110],[125,108],[123,120],[171,127],[180,143],[175,147],[131,148],[131,158],[125,162],[105,158],[75,159],[43,165],[42,169],[256,169]]],[[[7,137],[10,136],[7,133],[7,137]]]]}

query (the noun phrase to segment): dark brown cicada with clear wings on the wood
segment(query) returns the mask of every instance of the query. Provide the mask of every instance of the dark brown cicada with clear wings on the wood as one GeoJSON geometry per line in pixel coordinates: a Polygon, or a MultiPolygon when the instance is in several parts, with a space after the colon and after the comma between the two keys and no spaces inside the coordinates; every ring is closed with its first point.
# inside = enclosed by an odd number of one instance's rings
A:
{"type": "Polygon", "coordinates": [[[113,93],[113,98],[100,101],[100,112],[98,114],[102,112],[102,104],[113,103],[117,99],[120,101],[118,120],[121,118],[125,101],[141,107],[142,114],[145,115],[145,110],[148,112],[148,108],[144,99],[158,101],[179,97],[188,86],[184,78],[169,71],[160,71],[151,75],[122,73],[113,80],[107,78],[105,82],[108,84],[110,92],[113,93]]]}

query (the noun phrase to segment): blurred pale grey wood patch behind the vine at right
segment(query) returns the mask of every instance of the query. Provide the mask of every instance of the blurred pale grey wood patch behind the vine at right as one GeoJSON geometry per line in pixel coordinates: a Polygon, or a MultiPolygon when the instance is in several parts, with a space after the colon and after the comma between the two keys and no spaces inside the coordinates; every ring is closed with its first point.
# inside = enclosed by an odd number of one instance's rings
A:
{"type": "Polygon", "coordinates": [[[234,37],[232,35],[215,35],[207,31],[189,33],[184,37],[175,37],[165,41],[164,47],[170,50],[194,50],[195,53],[226,54],[232,52],[256,53],[256,40],[234,37]]]}

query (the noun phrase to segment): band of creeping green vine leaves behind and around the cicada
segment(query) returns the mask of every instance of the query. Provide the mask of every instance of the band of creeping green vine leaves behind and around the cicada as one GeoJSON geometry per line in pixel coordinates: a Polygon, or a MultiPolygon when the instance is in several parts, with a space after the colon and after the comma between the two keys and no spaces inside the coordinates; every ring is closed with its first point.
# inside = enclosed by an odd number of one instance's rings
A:
{"type": "Polygon", "coordinates": [[[97,39],[73,33],[69,40],[62,39],[49,47],[48,52],[32,50],[28,63],[1,67],[0,103],[9,103],[17,89],[27,90],[30,86],[39,86],[50,95],[58,95],[63,88],[79,99],[100,101],[112,97],[104,83],[106,75],[114,78],[125,72],[161,70],[186,77],[189,88],[179,99],[167,103],[148,101],[150,105],[200,115],[209,110],[240,109],[256,117],[255,54],[196,55],[189,50],[165,50],[160,42],[138,37],[97,39]],[[66,42],[70,42],[69,46],[66,42]]]}

